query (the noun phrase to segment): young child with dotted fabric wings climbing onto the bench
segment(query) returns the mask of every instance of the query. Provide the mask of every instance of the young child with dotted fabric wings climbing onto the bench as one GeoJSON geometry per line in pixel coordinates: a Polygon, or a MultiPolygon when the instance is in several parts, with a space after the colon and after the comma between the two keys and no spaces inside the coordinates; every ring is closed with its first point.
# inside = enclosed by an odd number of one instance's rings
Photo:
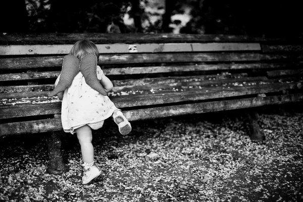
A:
{"type": "Polygon", "coordinates": [[[62,126],[65,132],[77,133],[84,162],[83,184],[101,174],[94,163],[92,131],[103,126],[104,120],[113,117],[121,134],[131,131],[131,125],[107,96],[113,88],[111,80],[97,66],[99,52],[88,40],[77,41],[65,56],[61,74],[49,96],[62,100],[62,126]]]}

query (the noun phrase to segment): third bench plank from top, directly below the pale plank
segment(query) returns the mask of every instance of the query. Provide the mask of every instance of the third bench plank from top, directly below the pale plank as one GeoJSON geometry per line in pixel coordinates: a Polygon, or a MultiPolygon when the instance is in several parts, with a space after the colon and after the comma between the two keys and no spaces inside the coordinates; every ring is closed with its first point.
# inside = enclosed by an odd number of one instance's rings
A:
{"type": "MultiPolygon", "coordinates": [[[[302,55],[274,55],[258,53],[163,53],[163,54],[105,54],[99,56],[98,65],[138,63],[180,63],[180,62],[244,62],[302,59],[302,55]]],[[[62,66],[63,56],[2,58],[0,70],[22,68],[45,68],[62,66]]]]}

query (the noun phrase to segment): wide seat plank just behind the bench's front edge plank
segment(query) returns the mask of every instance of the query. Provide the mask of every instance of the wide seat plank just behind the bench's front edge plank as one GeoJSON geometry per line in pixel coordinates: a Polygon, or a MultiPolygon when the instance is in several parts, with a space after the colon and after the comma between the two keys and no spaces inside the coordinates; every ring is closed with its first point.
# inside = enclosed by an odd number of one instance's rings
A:
{"type": "MultiPolygon", "coordinates": [[[[157,90],[144,93],[129,93],[127,96],[110,96],[118,108],[142,107],[149,105],[162,105],[176,103],[210,100],[217,98],[236,97],[241,95],[256,95],[268,92],[278,92],[287,89],[302,88],[301,82],[296,83],[275,83],[250,86],[225,87],[204,87],[189,88],[186,90],[157,90]],[[262,86],[262,87],[261,87],[262,86]],[[153,93],[154,92],[154,93],[153,93]]],[[[23,104],[0,106],[0,119],[15,117],[27,117],[46,114],[59,114],[61,102],[47,104],[23,104]]]]}

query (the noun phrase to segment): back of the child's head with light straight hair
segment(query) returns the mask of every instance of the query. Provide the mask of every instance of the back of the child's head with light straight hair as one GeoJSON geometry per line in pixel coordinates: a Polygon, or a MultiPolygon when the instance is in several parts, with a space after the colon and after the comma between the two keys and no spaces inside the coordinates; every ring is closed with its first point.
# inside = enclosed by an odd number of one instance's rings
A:
{"type": "Polygon", "coordinates": [[[99,60],[99,51],[97,46],[89,40],[80,40],[77,41],[70,52],[71,55],[76,56],[81,60],[86,54],[95,54],[99,60]]]}

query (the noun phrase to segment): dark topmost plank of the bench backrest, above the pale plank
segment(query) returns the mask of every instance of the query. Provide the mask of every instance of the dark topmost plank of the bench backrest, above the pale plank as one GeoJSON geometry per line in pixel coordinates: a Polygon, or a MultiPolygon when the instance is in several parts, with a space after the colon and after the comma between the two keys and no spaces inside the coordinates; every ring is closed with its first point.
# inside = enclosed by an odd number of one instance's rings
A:
{"type": "Polygon", "coordinates": [[[0,35],[1,45],[35,44],[74,44],[88,39],[96,44],[108,43],[189,43],[189,42],[300,42],[302,37],[261,38],[244,35],[206,35],[206,34],[103,34],[103,33],[40,33],[0,35]]]}

